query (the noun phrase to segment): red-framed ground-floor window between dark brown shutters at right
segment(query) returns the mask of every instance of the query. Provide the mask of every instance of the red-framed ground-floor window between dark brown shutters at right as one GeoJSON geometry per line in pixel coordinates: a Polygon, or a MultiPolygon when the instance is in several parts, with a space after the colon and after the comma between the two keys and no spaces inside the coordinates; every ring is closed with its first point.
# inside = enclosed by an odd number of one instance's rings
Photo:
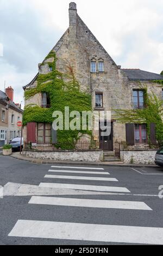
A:
{"type": "Polygon", "coordinates": [[[147,125],[135,124],[135,143],[146,144],[147,142],[147,125]]]}

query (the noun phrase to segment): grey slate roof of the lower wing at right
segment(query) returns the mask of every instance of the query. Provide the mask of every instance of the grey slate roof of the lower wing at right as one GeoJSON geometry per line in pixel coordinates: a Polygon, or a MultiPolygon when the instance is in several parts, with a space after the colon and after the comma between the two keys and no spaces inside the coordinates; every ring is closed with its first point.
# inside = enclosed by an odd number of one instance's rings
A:
{"type": "Polygon", "coordinates": [[[127,74],[130,80],[133,80],[133,81],[163,80],[163,75],[147,72],[140,69],[121,69],[121,70],[127,74]]]}

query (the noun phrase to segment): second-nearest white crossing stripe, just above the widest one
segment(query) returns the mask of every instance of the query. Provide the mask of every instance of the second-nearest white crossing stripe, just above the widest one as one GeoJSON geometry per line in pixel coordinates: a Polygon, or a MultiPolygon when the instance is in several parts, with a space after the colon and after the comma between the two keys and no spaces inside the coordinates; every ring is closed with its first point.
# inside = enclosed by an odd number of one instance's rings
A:
{"type": "Polygon", "coordinates": [[[114,200],[89,200],[89,199],[73,199],[73,198],[54,198],[54,197],[32,197],[29,201],[29,204],[152,211],[152,209],[148,205],[146,205],[145,203],[136,202],[136,201],[114,201],[114,200]]]}

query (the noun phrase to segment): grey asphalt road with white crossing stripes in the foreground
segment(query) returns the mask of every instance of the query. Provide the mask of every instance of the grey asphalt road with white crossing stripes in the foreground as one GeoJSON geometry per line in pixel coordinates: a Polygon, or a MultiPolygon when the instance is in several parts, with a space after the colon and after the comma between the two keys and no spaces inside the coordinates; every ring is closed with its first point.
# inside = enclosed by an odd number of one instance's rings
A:
{"type": "Polygon", "coordinates": [[[163,244],[163,169],[102,169],[0,156],[0,245],[163,244]]]}

